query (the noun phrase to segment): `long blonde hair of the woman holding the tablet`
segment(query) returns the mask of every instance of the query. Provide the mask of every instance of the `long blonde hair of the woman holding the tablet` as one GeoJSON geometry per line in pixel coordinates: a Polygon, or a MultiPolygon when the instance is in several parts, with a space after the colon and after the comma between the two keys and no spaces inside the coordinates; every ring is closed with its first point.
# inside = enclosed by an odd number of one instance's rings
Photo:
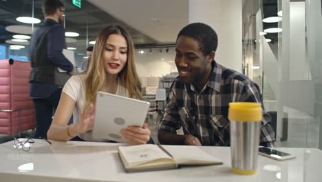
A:
{"type": "Polygon", "coordinates": [[[142,89],[140,79],[136,72],[134,63],[134,45],[129,33],[121,26],[108,26],[104,28],[96,37],[94,45],[92,61],[89,63],[89,68],[85,79],[85,108],[90,103],[95,105],[96,93],[103,90],[107,79],[106,63],[104,60],[105,44],[109,35],[121,34],[127,41],[127,62],[125,67],[118,73],[121,84],[127,88],[129,97],[134,99],[142,99],[142,89]]]}

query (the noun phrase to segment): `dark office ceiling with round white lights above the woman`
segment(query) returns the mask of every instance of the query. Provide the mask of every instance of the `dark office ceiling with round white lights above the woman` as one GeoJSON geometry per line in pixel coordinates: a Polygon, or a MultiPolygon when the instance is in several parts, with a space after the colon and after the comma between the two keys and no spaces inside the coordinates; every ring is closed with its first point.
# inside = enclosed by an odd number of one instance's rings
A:
{"type": "MultiPolygon", "coordinates": [[[[105,3],[105,1],[102,2],[105,3]]],[[[21,23],[17,21],[16,18],[22,16],[32,17],[32,10],[34,10],[34,17],[43,21],[43,13],[41,11],[42,3],[42,0],[0,0],[0,43],[12,43],[10,42],[12,35],[17,34],[15,32],[19,31],[21,26],[27,28],[27,30],[23,29],[23,34],[31,34],[32,25],[21,23]],[[34,9],[32,8],[33,4],[34,9]],[[11,28],[11,32],[8,31],[8,28],[11,28]]],[[[72,0],[65,1],[66,32],[78,32],[80,34],[79,37],[67,37],[67,47],[77,48],[76,53],[84,53],[87,40],[94,40],[96,34],[98,34],[100,30],[114,23],[124,26],[129,31],[129,34],[131,34],[131,37],[136,44],[159,43],[159,41],[140,32],[136,28],[129,26],[127,23],[116,19],[104,10],[96,8],[96,6],[88,1],[82,1],[82,8],[77,8],[72,5],[72,0]]],[[[39,26],[39,24],[34,24],[34,28],[37,26],[39,26]]],[[[26,45],[28,43],[17,44],[26,45]]]]}

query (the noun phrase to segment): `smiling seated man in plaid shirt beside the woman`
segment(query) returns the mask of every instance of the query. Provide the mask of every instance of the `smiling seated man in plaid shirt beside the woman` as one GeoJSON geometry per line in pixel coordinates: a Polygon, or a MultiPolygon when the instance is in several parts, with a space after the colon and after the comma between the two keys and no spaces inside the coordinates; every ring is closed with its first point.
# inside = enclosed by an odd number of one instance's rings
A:
{"type": "MultiPolygon", "coordinates": [[[[171,85],[158,139],[173,145],[230,145],[228,103],[260,102],[259,87],[244,74],[215,62],[216,32],[191,23],[178,34],[175,64],[179,77],[171,85]],[[184,135],[176,133],[182,127],[184,135]]],[[[260,145],[272,146],[275,132],[264,112],[260,145]]]]}

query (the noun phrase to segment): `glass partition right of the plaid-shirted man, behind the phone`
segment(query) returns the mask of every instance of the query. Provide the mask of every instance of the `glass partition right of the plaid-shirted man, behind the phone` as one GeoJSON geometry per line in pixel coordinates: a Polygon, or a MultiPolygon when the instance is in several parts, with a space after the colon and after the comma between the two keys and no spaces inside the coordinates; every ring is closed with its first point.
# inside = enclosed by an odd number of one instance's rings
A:
{"type": "Polygon", "coordinates": [[[261,85],[277,136],[275,145],[321,148],[321,1],[248,4],[253,8],[243,10],[244,74],[261,85]]]}

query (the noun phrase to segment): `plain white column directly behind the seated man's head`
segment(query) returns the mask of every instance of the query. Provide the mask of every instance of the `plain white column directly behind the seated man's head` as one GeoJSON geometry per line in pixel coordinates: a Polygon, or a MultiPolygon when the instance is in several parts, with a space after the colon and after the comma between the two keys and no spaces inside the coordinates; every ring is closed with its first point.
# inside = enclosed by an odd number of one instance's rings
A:
{"type": "Polygon", "coordinates": [[[242,64],[242,1],[189,0],[189,23],[211,26],[218,35],[215,61],[241,72],[242,64]]]}

